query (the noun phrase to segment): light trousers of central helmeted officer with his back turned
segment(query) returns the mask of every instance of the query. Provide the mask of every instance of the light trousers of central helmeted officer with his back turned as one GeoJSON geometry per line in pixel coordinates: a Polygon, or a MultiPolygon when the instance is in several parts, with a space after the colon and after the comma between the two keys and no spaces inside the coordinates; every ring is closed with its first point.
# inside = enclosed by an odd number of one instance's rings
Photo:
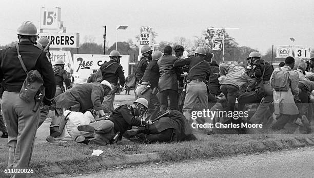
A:
{"type": "MultiPolygon", "coordinates": [[[[207,87],[204,82],[191,81],[186,86],[186,95],[183,105],[183,115],[188,120],[191,121],[191,110],[195,105],[195,101],[199,98],[200,101],[200,111],[208,109],[208,97],[207,97],[207,87]]],[[[197,119],[198,120],[198,119],[197,119]]],[[[204,118],[199,118],[200,124],[204,124],[204,118]]]]}

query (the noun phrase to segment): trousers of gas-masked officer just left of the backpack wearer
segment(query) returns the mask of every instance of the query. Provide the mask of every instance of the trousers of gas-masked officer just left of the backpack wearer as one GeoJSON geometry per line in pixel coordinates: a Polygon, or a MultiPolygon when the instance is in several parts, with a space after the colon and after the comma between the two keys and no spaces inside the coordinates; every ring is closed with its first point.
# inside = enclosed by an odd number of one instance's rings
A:
{"type": "Polygon", "coordinates": [[[263,124],[263,128],[269,128],[273,118],[272,113],[274,109],[271,105],[273,102],[273,91],[269,83],[263,84],[264,96],[262,98],[261,104],[257,108],[254,115],[251,117],[250,122],[252,124],[263,124]]]}

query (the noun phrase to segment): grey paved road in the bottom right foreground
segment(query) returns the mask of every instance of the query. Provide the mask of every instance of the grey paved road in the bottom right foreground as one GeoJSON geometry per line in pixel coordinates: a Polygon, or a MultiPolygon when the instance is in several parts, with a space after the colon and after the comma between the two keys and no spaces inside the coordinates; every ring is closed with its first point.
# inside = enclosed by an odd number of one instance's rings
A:
{"type": "Polygon", "coordinates": [[[314,177],[314,147],[207,161],[152,163],[80,177],[314,177]]]}

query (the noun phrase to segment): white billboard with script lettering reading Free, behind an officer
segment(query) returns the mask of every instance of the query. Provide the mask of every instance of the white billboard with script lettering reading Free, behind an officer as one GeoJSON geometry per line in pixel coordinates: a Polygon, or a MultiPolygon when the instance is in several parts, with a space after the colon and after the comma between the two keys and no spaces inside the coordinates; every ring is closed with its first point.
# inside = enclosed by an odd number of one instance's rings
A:
{"type": "MultiPolygon", "coordinates": [[[[124,76],[129,73],[129,55],[121,55],[120,65],[124,70],[124,76]]],[[[73,74],[80,78],[88,78],[90,74],[96,73],[104,62],[110,61],[109,55],[103,54],[73,54],[73,74]]]]}

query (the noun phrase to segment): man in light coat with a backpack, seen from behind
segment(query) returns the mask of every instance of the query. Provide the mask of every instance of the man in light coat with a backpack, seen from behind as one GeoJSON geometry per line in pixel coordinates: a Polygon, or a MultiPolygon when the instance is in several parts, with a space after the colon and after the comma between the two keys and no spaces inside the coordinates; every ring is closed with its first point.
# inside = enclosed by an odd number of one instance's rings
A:
{"type": "MultiPolygon", "coordinates": [[[[293,100],[294,96],[299,95],[299,75],[298,72],[291,70],[295,66],[295,59],[289,56],[286,58],[285,63],[286,65],[281,67],[281,69],[282,71],[289,72],[289,89],[288,91],[273,91],[273,102],[275,114],[277,115],[277,122],[271,126],[272,130],[284,129],[287,123],[293,123],[299,115],[298,107],[293,100]]],[[[274,78],[274,73],[279,70],[280,68],[274,69],[270,77],[270,83],[272,82],[271,79],[274,78]]]]}

